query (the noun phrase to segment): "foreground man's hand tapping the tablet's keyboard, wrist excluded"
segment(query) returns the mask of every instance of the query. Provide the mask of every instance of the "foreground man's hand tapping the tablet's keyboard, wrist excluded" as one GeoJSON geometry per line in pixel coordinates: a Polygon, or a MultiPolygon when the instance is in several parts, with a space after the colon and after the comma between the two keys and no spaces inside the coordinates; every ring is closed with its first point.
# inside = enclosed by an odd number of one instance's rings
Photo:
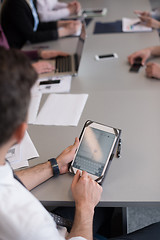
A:
{"type": "Polygon", "coordinates": [[[102,187],[87,174],[77,171],[72,182],[72,194],[77,208],[93,211],[98,204],[102,187]]]}

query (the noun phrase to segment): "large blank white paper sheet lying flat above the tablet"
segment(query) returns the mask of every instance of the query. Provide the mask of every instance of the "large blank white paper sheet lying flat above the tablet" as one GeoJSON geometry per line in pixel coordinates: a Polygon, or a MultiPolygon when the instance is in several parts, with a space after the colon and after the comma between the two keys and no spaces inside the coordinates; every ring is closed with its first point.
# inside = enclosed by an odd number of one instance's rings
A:
{"type": "Polygon", "coordinates": [[[51,94],[35,124],[77,126],[88,94],[51,94]]]}

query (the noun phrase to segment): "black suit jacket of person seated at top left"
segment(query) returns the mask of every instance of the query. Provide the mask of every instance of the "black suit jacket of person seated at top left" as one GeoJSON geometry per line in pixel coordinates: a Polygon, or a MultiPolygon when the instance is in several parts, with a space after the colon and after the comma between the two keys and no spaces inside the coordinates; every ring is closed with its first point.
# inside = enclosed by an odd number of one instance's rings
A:
{"type": "Polygon", "coordinates": [[[38,43],[58,38],[57,23],[39,23],[33,31],[32,11],[25,0],[5,0],[1,11],[1,24],[10,47],[21,48],[28,40],[38,43]]]}

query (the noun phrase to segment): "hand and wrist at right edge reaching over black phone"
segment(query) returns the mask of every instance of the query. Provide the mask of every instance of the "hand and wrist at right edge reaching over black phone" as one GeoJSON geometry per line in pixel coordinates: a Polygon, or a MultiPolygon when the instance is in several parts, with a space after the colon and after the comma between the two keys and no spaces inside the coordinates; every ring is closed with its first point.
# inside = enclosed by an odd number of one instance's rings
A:
{"type": "Polygon", "coordinates": [[[132,65],[135,58],[141,57],[142,65],[144,65],[151,56],[160,56],[160,46],[148,47],[134,52],[128,56],[128,62],[132,65]]]}

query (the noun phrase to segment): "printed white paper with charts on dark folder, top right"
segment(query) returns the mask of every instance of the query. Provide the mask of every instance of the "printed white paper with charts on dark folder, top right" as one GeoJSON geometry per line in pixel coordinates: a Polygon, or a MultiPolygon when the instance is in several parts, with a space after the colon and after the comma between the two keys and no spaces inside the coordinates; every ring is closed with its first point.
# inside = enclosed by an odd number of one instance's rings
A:
{"type": "Polygon", "coordinates": [[[136,23],[140,22],[139,18],[122,18],[122,31],[123,32],[150,32],[152,28],[146,27],[142,24],[136,23]]]}

